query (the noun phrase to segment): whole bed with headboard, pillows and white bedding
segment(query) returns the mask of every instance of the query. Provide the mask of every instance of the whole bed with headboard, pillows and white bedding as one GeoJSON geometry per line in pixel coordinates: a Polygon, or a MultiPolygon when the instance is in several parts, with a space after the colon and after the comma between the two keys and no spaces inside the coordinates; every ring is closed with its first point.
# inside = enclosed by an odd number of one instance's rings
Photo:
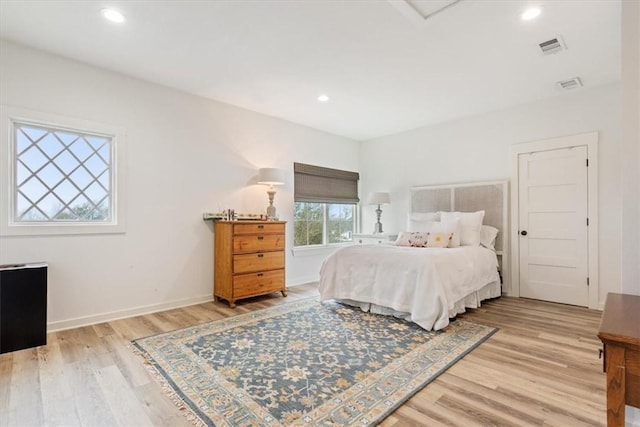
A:
{"type": "Polygon", "coordinates": [[[501,295],[500,273],[508,277],[502,259],[508,254],[507,182],[409,193],[407,231],[396,242],[336,250],[320,269],[320,299],[439,330],[466,308],[501,295]]]}

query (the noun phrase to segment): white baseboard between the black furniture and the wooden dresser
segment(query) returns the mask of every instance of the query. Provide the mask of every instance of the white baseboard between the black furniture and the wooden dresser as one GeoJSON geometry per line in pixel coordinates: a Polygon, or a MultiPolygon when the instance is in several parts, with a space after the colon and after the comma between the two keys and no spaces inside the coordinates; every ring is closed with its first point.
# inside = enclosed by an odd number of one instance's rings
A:
{"type": "Polygon", "coordinates": [[[211,294],[207,294],[200,297],[185,298],[182,300],[164,302],[160,304],[145,305],[142,307],[111,311],[108,313],[96,314],[92,316],[76,317],[75,319],[61,320],[58,322],[49,322],[47,323],[47,332],[57,332],[63,331],[65,329],[80,328],[82,326],[95,325],[96,323],[110,322],[112,320],[140,316],[142,314],[156,313],[158,311],[171,310],[174,308],[202,304],[210,301],[213,301],[213,296],[211,294]]]}

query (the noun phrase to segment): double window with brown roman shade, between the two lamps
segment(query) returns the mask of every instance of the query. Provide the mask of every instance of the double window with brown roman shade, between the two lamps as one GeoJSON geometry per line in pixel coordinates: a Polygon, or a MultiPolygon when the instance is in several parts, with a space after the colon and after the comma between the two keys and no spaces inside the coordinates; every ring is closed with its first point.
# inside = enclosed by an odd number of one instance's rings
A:
{"type": "Polygon", "coordinates": [[[294,246],[351,242],[358,173],[294,163],[294,174],[294,246]]]}

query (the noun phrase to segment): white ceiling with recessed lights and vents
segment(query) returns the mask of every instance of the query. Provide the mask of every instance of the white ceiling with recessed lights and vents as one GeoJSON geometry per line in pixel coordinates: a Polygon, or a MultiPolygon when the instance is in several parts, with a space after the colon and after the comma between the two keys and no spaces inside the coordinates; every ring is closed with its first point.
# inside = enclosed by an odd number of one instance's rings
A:
{"type": "Polygon", "coordinates": [[[619,0],[393,1],[2,0],[0,37],[355,140],[620,80],[619,0]]]}

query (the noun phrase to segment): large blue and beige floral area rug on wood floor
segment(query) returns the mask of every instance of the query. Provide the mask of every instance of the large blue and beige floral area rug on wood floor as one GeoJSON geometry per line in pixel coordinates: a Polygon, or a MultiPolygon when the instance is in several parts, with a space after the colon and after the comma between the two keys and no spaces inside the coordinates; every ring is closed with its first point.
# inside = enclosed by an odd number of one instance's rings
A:
{"type": "Polygon", "coordinates": [[[303,300],[133,341],[194,424],[375,425],[495,328],[303,300]]]}

